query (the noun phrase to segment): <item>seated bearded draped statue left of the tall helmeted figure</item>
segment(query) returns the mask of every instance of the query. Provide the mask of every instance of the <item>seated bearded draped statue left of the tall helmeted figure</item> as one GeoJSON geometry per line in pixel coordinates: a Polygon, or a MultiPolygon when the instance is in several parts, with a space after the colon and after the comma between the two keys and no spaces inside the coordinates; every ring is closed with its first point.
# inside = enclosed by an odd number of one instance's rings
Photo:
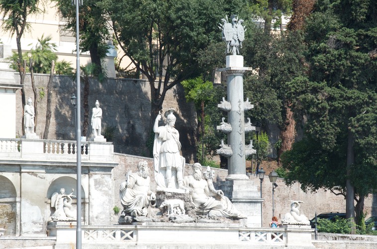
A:
{"type": "Polygon", "coordinates": [[[120,185],[122,216],[147,216],[147,208],[156,206],[156,194],[150,190],[151,179],[147,162],[139,162],[137,169],[137,173],[129,171],[126,181],[120,185]]]}

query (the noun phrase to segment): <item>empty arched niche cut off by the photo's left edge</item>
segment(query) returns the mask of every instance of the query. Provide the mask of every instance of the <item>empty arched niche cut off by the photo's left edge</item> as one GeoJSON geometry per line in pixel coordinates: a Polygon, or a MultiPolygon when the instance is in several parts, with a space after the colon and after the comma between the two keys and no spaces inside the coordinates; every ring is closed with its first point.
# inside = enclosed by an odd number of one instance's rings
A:
{"type": "Polygon", "coordinates": [[[4,235],[16,234],[17,191],[13,183],[0,176],[0,228],[6,229],[4,235]]]}

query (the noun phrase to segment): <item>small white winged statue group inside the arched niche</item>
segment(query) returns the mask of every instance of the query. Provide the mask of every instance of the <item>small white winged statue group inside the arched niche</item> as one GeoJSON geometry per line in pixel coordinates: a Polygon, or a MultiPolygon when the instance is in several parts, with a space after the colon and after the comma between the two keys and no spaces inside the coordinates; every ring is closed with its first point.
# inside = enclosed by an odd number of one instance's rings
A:
{"type": "Polygon", "coordinates": [[[53,221],[67,221],[76,220],[76,212],[72,208],[72,198],[76,198],[73,195],[74,189],[70,194],[66,193],[64,187],[60,188],[60,192],[54,192],[51,196],[51,207],[55,207],[55,212],[52,214],[51,219],[53,221]]]}

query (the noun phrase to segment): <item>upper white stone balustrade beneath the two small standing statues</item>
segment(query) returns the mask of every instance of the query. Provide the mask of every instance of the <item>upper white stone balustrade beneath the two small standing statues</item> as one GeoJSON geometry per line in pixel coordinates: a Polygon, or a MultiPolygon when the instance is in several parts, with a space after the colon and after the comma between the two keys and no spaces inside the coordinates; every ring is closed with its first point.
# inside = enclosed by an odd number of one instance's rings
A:
{"type": "MultiPolygon", "coordinates": [[[[109,161],[114,149],[110,142],[83,141],[80,150],[83,161],[109,161]]],[[[76,141],[0,138],[0,155],[3,159],[75,161],[77,151],[76,141]]]]}

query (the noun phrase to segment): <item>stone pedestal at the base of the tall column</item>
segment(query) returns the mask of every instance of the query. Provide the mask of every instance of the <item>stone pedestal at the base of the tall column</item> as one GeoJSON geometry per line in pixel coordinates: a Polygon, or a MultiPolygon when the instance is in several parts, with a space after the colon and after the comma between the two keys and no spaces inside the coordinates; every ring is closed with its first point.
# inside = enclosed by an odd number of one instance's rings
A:
{"type": "Polygon", "coordinates": [[[221,182],[220,189],[233,205],[247,217],[247,227],[261,227],[261,205],[258,187],[251,180],[221,182]]]}

